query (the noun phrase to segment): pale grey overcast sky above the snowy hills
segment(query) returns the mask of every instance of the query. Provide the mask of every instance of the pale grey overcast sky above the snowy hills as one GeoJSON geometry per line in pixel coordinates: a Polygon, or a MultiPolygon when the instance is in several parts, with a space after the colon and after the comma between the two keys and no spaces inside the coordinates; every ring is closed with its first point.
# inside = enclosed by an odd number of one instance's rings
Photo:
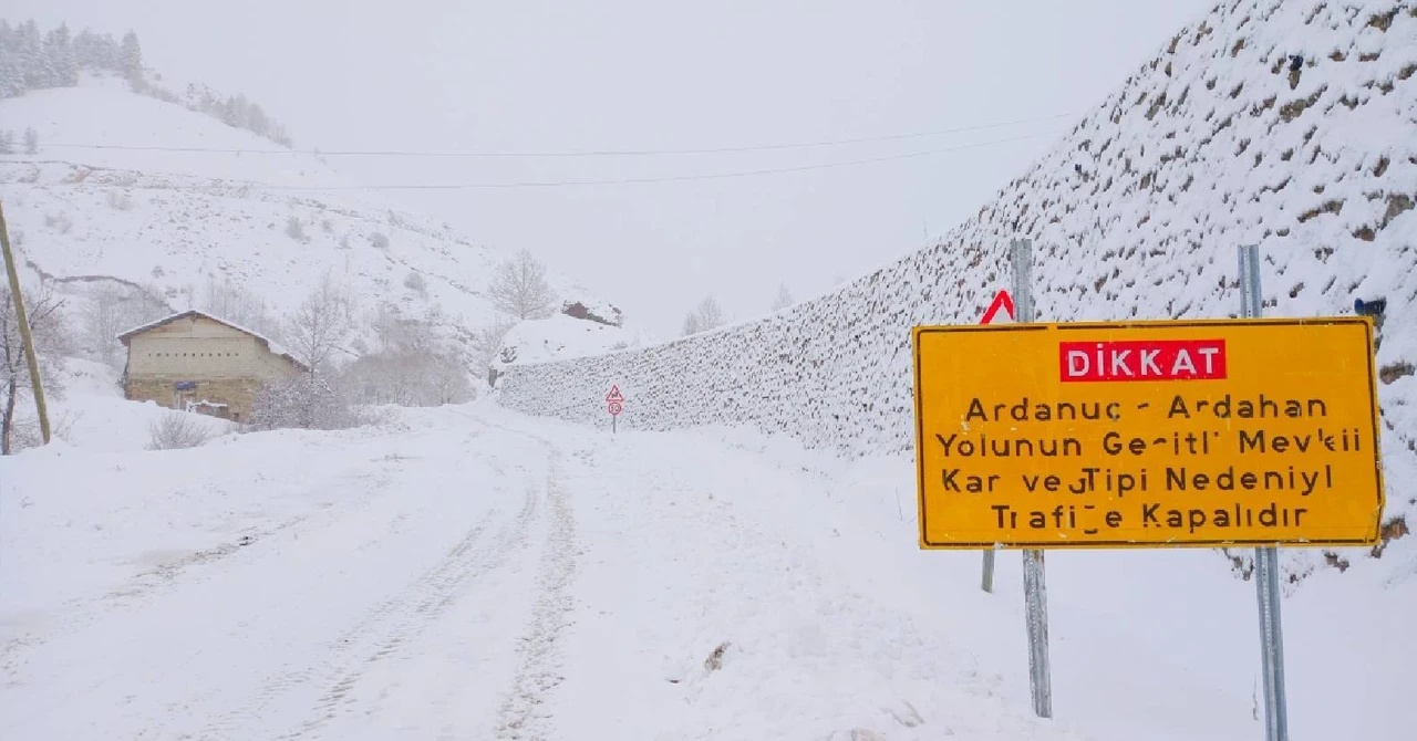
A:
{"type": "Polygon", "coordinates": [[[714,154],[332,160],[388,183],[662,183],[390,191],[527,248],[660,336],[713,295],[765,313],[925,245],[1022,174],[1210,3],[1199,0],[6,0],[137,31],[147,64],[245,92],[298,147],[584,152],[961,133],[714,154]],[[1032,139],[1019,139],[1033,136],[1032,139]]]}

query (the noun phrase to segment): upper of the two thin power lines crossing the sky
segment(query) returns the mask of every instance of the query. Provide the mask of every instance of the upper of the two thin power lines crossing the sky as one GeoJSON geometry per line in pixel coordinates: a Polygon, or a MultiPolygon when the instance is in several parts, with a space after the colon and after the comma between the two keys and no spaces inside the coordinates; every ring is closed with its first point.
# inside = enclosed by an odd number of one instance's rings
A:
{"type": "Polygon", "coordinates": [[[866,136],[856,139],[833,139],[822,142],[803,142],[791,145],[752,145],[752,146],[735,146],[735,147],[710,147],[710,149],[599,149],[599,150],[581,150],[581,152],[479,152],[479,150],[363,150],[363,149],[346,149],[346,150],[322,150],[322,149],[220,149],[220,147],[170,147],[170,146],[130,146],[130,145],[72,145],[72,143],[45,143],[45,147],[64,147],[64,149],[96,149],[96,150],[119,150],[119,152],[181,152],[181,153],[215,153],[215,154],[315,154],[322,157],[643,157],[643,156],[665,156],[665,154],[726,154],[734,152],[768,152],[768,150],[784,150],[784,149],[811,149],[811,147],[826,147],[826,146],[842,146],[842,145],[862,145],[870,142],[896,142],[903,139],[921,139],[928,136],[942,136],[947,133],[965,133],[965,132],[979,132],[988,129],[1000,129],[1003,126],[1016,126],[1019,123],[1033,123],[1040,120],[1054,120],[1060,118],[1068,118],[1074,113],[1056,113],[1051,116],[1034,116],[1017,120],[1005,120],[995,123],[981,123],[975,126],[959,126],[954,129],[937,129],[932,132],[915,132],[915,133],[897,133],[887,136],[866,136]]]}

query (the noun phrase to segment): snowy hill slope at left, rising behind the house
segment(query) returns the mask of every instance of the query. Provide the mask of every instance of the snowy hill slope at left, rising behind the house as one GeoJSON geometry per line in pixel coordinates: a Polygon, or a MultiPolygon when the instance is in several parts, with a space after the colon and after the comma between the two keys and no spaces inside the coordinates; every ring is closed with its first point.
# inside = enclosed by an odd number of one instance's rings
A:
{"type": "MultiPolygon", "coordinates": [[[[40,152],[0,157],[0,198],[31,276],[118,278],[177,310],[230,279],[285,313],[330,275],[366,309],[388,302],[421,317],[436,306],[458,334],[496,319],[486,288],[506,255],[341,190],[353,183],[315,156],[94,75],[0,101],[0,128],[30,126],[40,152]]],[[[550,281],[561,298],[604,303],[550,281]]]]}

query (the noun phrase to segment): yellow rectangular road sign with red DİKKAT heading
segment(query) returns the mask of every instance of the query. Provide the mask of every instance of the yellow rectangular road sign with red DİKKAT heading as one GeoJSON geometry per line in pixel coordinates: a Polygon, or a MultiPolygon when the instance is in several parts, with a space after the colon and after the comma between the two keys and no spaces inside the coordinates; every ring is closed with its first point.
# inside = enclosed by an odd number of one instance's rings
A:
{"type": "Polygon", "coordinates": [[[1359,545],[1366,317],[915,327],[922,548],[1359,545]]]}

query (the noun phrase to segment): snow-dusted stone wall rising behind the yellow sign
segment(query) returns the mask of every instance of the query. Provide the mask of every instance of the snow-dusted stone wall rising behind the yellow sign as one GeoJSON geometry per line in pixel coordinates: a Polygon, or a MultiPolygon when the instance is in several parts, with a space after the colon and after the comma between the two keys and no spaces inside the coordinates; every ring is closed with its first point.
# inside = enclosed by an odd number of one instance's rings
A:
{"type": "MultiPolygon", "coordinates": [[[[914,446],[910,327],[971,324],[1034,244],[1040,320],[1226,317],[1258,244],[1270,316],[1387,299],[1386,533],[1417,516],[1417,4],[1230,0],[1165,40],[938,245],[768,319],[500,381],[521,411],[670,429],[750,424],[845,455],[914,446]]],[[[1335,558],[1363,558],[1349,550],[1335,558]]],[[[1318,564],[1288,553],[1291,572],[1318,564]]]]}

